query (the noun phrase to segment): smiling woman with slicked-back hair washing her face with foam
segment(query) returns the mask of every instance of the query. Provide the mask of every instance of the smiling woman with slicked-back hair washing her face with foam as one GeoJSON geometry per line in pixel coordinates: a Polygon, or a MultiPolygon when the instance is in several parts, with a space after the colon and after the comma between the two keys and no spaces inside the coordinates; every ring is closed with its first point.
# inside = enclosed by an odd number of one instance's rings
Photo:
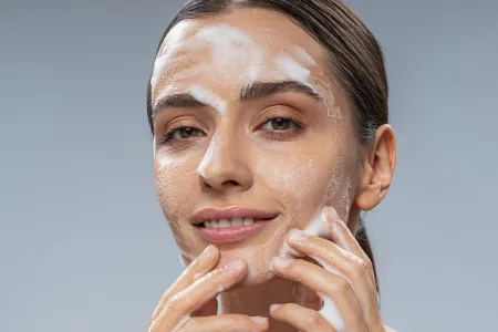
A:
{"type": "Polygon", "coordinates": [[[387,82],[345,4],[190,1],[147,94],[157,195],[188,264],[147,331],[390,331],[360,219],[396,163],[387,82]]]}

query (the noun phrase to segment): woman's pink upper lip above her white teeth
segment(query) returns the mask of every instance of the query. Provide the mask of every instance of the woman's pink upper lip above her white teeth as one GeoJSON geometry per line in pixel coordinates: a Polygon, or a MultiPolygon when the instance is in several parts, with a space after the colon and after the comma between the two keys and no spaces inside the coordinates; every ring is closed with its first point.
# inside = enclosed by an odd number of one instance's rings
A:
{"type": "Polygon", "coordinates": [[[194,214],[191,224],[198,226],[199,224],[207,220],[234,218],[273,219],[277,216],[277,212],[267,212],[243,207],[231,207],[227,209],[205,208],[194,214]]]}

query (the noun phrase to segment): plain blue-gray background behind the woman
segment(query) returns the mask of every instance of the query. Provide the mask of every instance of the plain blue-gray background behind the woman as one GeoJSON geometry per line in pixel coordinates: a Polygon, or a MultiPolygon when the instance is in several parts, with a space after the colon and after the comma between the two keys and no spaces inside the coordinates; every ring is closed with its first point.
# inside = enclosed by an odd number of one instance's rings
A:
{"type": "MultiPolygon", "coordinates": [[[[382,43],[398,164],[366,220],[400,331],[497,331],[498,2],[346,1],[382,43]]],[[[145,87],[180,1],[0,7],[0,331],[145,331],[181,271],[145,87]]]]}

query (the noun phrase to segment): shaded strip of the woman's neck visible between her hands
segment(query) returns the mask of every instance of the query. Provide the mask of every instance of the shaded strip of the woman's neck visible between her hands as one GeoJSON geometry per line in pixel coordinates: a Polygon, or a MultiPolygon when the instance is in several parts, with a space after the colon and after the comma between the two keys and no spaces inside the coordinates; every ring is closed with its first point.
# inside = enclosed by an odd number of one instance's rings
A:
{"type": "Polygon", "coordinates": [[[295,303],[292,288],[293,281],[276,278],[262,284],[230,290],[220,294],[221,312],[268,317],[269,332],[297,332],[270,315],[270,305],[273,303],[295,303]]]}

